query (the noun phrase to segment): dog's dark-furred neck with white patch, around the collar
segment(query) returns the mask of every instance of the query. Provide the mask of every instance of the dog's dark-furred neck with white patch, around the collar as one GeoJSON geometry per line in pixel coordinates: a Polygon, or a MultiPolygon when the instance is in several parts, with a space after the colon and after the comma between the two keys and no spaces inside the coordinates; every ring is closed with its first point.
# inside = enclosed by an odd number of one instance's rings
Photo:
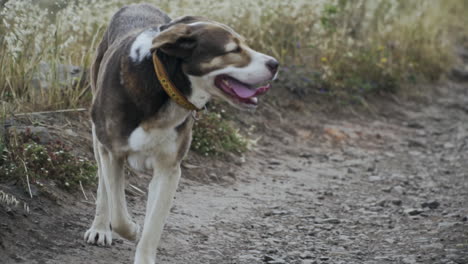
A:
{"type": "MultiPolygon", "coordinates": [[[[158,31],[150,28],[141,32],[132,43],[129,43],[130,53],[124,56],[120,64],[120,84],[131,98],[131,101],[122,103],[127,105],[126,118],[134,126],[155,120],[177,125],[179,120],[183,121],[190,114],[189,110],[168,96],[156,76],[150,47],[158,31]]],[[[203,108],[210,95],[202,86],[191,82],[182,69],[183,61],[161,51],[156,52],[174,86],[197,108],[203,108]]],[[[134,127],[129,128],[132,129],[134,127]]],[[[128,132],[124,134],[126,133],[128,132]]]]}

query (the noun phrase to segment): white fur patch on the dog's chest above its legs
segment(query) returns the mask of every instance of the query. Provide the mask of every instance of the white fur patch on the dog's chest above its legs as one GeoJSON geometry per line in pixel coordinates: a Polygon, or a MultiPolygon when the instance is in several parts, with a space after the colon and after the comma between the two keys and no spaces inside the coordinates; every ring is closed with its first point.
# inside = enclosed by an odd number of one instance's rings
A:
{"type": "Polygon", "coordinates": [[[177,153],[177,132],[174,128],[136,128],[128,139],[128,165],[139,173],[152,174],[158,162],[169,162],[177,153]]]}

